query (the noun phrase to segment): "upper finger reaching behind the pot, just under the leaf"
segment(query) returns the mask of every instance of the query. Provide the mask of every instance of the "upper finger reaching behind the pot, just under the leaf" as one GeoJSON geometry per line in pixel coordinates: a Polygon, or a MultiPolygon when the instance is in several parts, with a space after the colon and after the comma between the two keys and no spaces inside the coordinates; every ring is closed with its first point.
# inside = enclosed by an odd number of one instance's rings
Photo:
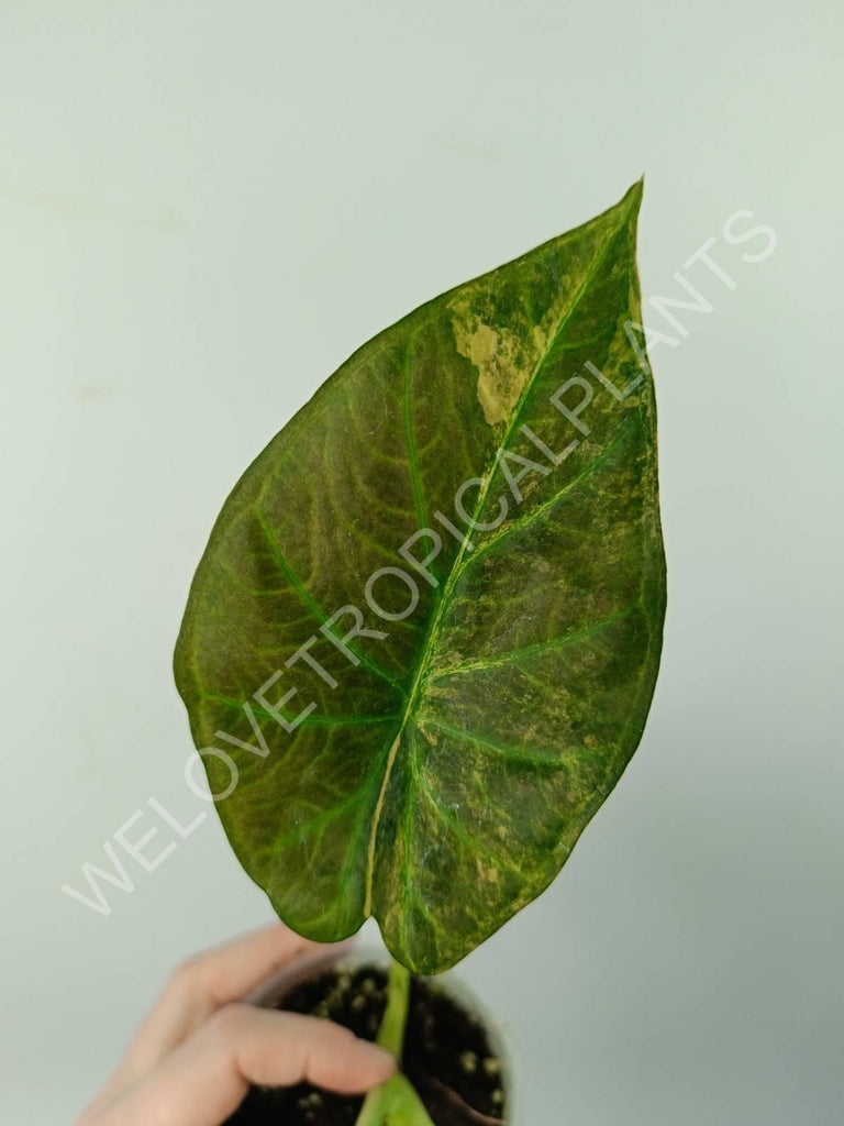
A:
{"type": "Polygon", "coordinates": [[[298,955],[317,949],[326,947],[273,923],[183,963],[141,1026],[120,1065],[120,1081],[149,1071],[221,1006],[241,1000],[298,955]]]}

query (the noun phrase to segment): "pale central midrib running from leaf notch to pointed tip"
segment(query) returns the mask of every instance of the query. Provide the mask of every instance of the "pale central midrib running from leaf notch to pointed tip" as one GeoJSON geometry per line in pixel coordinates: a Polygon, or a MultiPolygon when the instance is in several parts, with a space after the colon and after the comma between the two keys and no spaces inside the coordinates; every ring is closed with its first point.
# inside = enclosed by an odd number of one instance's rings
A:
{"type": "MultiPolygon", "coordinates": [[[[536,363],[533,370],[531,372],[530,378],[526,383],[524,388],[521,395],[519,396],[519,401],[515,404],[513,413],[510,418],[510,421],[506,425],[506,428],[504,430],[504,436],[495,447],[492,457],[492,464],[487,466],[486,471],[482,475],[481,480],[483,484],[478,490],[478,499],[475,503],[475,508],[472,513],[470,526],[477,520],[478,516],[483,511],[484,504],[486,503],[486,498],[490,493],[490,489],[492,486],[493,481],[496,477],[496,472],[500,468],[497,453],[500,449],[508,448],[510,439],[512,438],[517,427],[521,422],[522,411],[533,388],[533,384],[536,383],[542,368],[545,367],[545,364],[548,360],[548,357],[550,356],[551,351],[554,350],[555,345],[559,340],[560,334],[565,331],[566,325],[568,324],[572,316],[576,312],[581,301],[583,300],[585,293],[589,289],[590,284],[592,283],[598,270],[602,266],[603,260],[607,257],[607,252],[610,248],[610,244],[612,243],[612,240],[618,233],[622,220],[627,217],[627,213],[628,208],[625,208],[623,212],[621,213],[621,218],[619,220],[618,224],[613,226],[611,231],[608,232],[607,239],[603,245],[600,248],[600,250],[595,253],[595,257],[592,261],[592,266],[590,267],[585,278],[583,279],[583,283],[577,289],[577,293],[575,294],[572,304],[567,309],[565,315],[562,318],[559,324],[557,325],[556,331],[554,332],[548,345],[546,346],[545,351],[536,363]]],[[[365,904],[363,904],[363,914],[366,915],[367,919],[372,913],[372,881],[375,876],[376,842],[378,838],[378,830],[380,828],[381,814],[384,812],[384,803],[387,796],[387,787],[389,786],[389,780],[393,775],[393,770],[395,768],[396,759],[398,757],[398,748],[401,745],[402,734],[404,732],[404,729],[407,726],[407,722],[412,720],[413,716],[415,715],[420,698],[422,696],[422,690],[425,685],[425,678],[428,676],[428,671],[430,669],[431,661],[433,660],[433,654],[437,649],[437,640],[442,624],[442,618],[448,608],[451,595],[454,592],[454,588],[457,584],[463,573],[463,561],[466,555],[467,543],[468,543],[468,533],[464,538],[463,543],[460,544],[460,548],[457,555],[455,556],[455,562],[452,563],[451,570],[449,571],[448,578],[446,580],[446,586],[443,587],[442,596],[439,599],[437,604],[437,609],[431,617],[431,623],[428,627],[428,632],[422,642],[422,652],[420,653],[419,661],[416,662],[416,670],[413,678],[413,683],[411,686],[411,690],[407,696],[407,706],[404,711],[402,722],[398,726],[396,736],[393,740],[393,743],[390,744],[389,753],[387,756],[387,762],[384,770],[384,779],[381,781],[380,790],[378,794],[378,801],[376,803],[375,812],[372,814],[372,823],[369,830],[369,843],[367,849],[366,893],[365,893],[365,904]]]]}

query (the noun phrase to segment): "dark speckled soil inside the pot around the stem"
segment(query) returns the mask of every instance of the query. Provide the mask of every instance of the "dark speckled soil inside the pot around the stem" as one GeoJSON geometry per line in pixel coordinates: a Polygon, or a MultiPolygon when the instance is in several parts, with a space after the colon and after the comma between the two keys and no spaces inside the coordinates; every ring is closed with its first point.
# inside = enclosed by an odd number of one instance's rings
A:
{"type": "MultiPolygon", "coordinates": [[[[374,1040],[386,1006],[386,975],[371,966],[322,972],[295,986],[277,1008],[327,1017],[374,1040]]],[[[478,1020],[432,982],[411,985],[402,1070],[436,1126],[499,1126],[505,1114],[501,1061],[478,1020]]],[[[362,1098],[309,1083],[250,1089],[227,1126],[354,1126],[362,1098]]]]}

